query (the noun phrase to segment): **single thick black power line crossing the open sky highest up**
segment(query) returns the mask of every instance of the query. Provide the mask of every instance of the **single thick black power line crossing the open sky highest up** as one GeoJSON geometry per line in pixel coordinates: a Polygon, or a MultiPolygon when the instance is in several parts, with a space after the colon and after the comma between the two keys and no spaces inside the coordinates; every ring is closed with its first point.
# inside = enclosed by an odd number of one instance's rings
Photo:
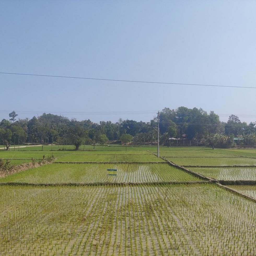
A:
{"type": "Polygon", "coordinates": [[[39,75],[39,74],[22,74],[22,73],[7,73],[7,72],[0,72],[0,74],[34,75],[34,76],[40,76],[40,77],[61,77],[61,78],[90,79],[90,80],[102,80],[102,81],[131,82],[131,83],[200,85],[200,86],[214,86],[214,87],[232,87],[232,88],[250,88],[250,89],[256,89],[256,87],[249,87],[249,86],[212,85],[212,84],[184,84],[184,83],[168,83],[168,82],[149,82],[149,81],[103,79],[103,78],[90,78],[90,77],[69,77],[69,76],[62,76],[62,75],[39,75]]]}

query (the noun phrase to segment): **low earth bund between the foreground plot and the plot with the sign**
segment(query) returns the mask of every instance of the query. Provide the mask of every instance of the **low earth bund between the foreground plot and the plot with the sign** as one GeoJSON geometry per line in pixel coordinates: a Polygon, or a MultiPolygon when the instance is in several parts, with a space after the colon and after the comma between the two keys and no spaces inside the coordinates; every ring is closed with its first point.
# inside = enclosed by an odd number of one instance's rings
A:
{"type": "Polygon", "coordinates": [[[39,186],[39,187],[85,187],[102,185],[182,185],[182,184],[208,184],[211,181],[155,181],[155,182],[86,182],[86,183],[29,183],[29,182],[0,182],[0,186],[39,186]]]}

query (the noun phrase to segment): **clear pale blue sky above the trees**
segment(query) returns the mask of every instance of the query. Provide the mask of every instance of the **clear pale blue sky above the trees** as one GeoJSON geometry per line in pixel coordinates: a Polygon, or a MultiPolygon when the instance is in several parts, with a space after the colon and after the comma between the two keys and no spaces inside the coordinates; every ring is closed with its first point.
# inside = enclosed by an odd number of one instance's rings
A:
{"type": "MultiPolygon", "coordinates": [[[[255,10],[249,0],[2,0],[0,72],[256,87],[255,10]]],[[[157,110],[185,106],[249,123],[255,93],[0,74],[0,120],[15,110],[18,118],[45,112],[97,123],[150,121],[157,110]]]]}

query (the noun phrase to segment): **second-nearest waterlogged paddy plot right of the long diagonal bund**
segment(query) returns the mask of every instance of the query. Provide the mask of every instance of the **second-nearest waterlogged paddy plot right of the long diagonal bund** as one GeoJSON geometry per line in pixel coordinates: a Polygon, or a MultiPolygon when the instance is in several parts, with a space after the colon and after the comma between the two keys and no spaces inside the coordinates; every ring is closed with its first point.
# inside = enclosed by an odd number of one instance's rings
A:
{"type": "Polygon", "coordinates": [[[226,168],[195,168],[191,171],[218,180],[256,180],[256,168],[251,167],[226,167],[226,168]]]}

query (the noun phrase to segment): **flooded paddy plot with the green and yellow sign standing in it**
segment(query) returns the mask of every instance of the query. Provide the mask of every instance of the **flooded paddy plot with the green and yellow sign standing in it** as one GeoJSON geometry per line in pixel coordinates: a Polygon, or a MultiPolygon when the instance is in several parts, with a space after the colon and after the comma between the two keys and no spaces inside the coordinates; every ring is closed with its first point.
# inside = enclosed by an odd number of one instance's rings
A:
{"type": "Polygon", "coordinates": [[[107,168],[118,170],[117,182],[199,181],[167,163],[159,164],[51,164],[28,169],[0,179],[0,182],[86,183],[115,182],[107,168]]]}

